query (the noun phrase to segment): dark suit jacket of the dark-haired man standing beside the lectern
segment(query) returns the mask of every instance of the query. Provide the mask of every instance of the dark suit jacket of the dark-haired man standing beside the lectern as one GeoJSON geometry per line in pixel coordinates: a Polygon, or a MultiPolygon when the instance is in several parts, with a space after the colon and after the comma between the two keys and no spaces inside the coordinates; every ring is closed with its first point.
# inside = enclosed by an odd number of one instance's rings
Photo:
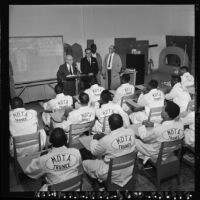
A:
{"type": "Polygon", "coordinates": [[[96,58],[91,57],[91,65],[86,57],[81,59],[81,72],[83,74],[93,73],[96,76],[98,71],[99,69],[96,58]]]}

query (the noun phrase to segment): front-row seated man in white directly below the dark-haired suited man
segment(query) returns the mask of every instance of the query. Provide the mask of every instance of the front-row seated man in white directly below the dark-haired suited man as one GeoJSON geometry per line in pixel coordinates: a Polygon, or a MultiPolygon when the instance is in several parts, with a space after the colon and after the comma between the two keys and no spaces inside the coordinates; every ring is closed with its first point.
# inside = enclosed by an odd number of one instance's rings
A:
{"type": "Polygon", "coordinates": [[[95,107],[95,109],[99,108],[100,95],[103,90],[105,89],[97,84],[97,78],[91,77],[90,88],[85,90],[85,93],[89,95],[90,106],[95,107]]]}

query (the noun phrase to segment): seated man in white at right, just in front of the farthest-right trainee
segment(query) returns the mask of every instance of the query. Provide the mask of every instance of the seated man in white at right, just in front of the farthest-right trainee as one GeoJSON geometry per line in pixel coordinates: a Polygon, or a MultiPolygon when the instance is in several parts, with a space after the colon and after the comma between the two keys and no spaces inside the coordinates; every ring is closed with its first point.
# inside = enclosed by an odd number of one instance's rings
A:
{"type": "Polygon", "coordinates": [[[178,75],[172,75],[171,78],[172,89],[169,93],[165,94],[165,99],[172,100],[180,107],[180,112],[184,112],[187,109],[189,101],[191,101],[190,94],[187,89],[181,85],[181,77],[178,75]]]}

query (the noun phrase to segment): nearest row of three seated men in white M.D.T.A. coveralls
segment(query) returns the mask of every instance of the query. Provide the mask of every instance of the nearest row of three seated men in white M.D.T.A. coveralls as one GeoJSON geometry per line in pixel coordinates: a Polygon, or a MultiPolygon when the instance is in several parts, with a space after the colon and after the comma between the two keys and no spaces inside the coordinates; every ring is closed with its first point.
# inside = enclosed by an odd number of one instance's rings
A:
{"type": "MultiPolygon", "coordinates": [[[[83,166],[91,180],[105,181],[111,158],[127,155],[133,151],[138,151],[138,157],[141,159],[156,158],[161,142],[182,139],[183,123],[176,121],[179,112],[180,109],[175,103],[167,103],[162,112],[163,124],[151,132],[139,132],[137,135],[131,127],[124,128],[120,114],[111,114],[108,118],[111,132],[96,134],[90,142],[90,150],[95,159],[83,160],[78,149],[68,148],[64,130],[55,128],[50,135],[50,143],[53,147],[46,155],[33,159],[26,167],[25,173],[36,179],[46,177],[46,184],[42,186],[42,191],[47,190],[48,184],[55,184],[76,176],[79,173],[77,167],[79,164],[83,166]],[[173,134],[163,134],[174,129],[176,132],[173,134]],[[145,142],[141,142],[139,138],[145,142]]],[[[113,173],[112,182],[121,187],[126,185],[132,176],[132,167],[123,169],[120,173],[117,171],[113,173]]]]}

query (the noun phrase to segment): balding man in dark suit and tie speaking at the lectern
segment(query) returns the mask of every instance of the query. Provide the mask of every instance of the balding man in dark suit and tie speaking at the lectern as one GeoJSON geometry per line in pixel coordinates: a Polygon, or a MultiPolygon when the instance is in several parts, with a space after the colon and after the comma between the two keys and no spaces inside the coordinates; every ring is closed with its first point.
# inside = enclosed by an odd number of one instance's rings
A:
{"type": "Polygon", "coordinates": [[[71,55],[65,55],[65,63],[60,65],[59,70],[57,72],[57,80],[58,83],[63,84],[64,94],[65,95],[75,95],[76,91],[76,83],[75,79],[66,79],[66,76],[76,75],[77,69],[75,64],[73,63],[73,57],[71,55]]]}

